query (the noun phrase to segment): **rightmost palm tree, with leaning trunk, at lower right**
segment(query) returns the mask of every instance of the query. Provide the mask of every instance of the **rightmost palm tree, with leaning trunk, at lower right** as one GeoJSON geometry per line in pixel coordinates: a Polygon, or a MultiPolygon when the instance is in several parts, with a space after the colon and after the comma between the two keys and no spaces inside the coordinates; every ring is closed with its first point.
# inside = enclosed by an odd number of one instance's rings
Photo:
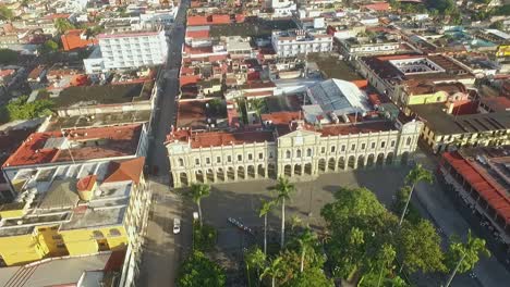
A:
{"type": "Polygon", "coordinates": [[[448,252],[450,266],[457,261],[456,267],[451,272],[445,287],[450,286],[457,272],[464,273],[474,267],[478,262],[479,255],[490,257],[490,252],[485,247],[485,240],[473,237],[471,230],[467,232],[467,241],[464,244],[459,237],[453,237],[448,252]]]}

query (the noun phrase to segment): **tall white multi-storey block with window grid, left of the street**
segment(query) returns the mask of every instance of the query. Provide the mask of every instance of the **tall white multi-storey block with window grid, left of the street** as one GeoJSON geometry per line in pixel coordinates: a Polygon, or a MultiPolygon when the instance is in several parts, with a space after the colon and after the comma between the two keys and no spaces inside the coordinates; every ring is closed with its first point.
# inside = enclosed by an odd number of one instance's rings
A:
{"type": "Polygon", "coordinates": [[[167,61],[165,30],[101,34],[98,39],[98,51],[83,60],[87,74],[154,66],[167,61]]]}

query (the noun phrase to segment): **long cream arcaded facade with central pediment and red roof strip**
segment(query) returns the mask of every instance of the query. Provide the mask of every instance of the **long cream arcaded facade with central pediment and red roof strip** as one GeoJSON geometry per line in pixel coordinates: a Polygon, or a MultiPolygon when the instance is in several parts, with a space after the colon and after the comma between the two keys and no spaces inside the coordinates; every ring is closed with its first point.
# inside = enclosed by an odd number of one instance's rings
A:
{"type": "Polygon", "coordinates": [[[394,122],[313,127],[292,123],[274,130],[169,135],[167,149],[174,187],[321,173],[406,163],[423,123],[394,122]]]}

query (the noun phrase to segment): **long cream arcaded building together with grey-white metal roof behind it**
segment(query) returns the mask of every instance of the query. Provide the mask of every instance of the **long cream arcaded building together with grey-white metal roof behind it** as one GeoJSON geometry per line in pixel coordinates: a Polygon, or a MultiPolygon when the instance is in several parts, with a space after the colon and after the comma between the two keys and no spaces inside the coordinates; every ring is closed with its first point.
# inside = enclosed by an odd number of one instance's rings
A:
{"type": "Polygon", "coordinates": [[[301,111],[263,114],[263,126],[256,130],[172,130],[167,149],[173,185],[313,178],[326,172],[406,163],[423,123],[399,115],[391,103],[385,104],[392,109],[381,104],[374,110],[353,86],[338,79],[317,84],[301,99],[307,103],[301,111]]]}

